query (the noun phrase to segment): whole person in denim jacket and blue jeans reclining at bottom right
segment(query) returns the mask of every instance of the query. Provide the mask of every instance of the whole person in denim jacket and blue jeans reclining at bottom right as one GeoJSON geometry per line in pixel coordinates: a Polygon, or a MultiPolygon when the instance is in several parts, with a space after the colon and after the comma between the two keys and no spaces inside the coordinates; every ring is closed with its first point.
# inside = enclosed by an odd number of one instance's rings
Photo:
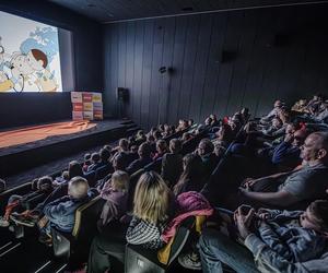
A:
{"type": "Polygon", "coordinates": [[[230,237],[203,230],[199,241],[202,270],[223,272],[224,263],[236,272],[325,272],[327,263],[316,261],[328,258],[327,212],[328,201],[315,201],[306,212],[256,214],[241,206],[234,219],[227,217],[229,226],[236,228],[229,229],[230,237]]]}

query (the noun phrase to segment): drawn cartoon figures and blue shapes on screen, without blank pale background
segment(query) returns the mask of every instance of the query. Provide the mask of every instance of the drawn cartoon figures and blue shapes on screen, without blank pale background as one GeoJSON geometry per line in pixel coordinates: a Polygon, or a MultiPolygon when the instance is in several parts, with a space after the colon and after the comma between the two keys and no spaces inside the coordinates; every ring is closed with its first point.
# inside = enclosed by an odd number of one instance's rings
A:
{"type": "Polygon", "coordinates": [[[7,52],[0,39],[0,92],[56,92],[51,61],[58,54],[52,27],[36,27],[15,52],[7,52]]]}

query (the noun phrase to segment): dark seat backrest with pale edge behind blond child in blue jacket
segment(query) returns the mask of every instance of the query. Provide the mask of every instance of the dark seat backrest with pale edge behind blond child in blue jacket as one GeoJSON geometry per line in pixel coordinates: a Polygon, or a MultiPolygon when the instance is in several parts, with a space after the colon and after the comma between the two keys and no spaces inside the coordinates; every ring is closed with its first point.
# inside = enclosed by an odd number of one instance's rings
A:
{"type": "Polygon", "coordinates": [[[97,221],[104,203],[105,200],[97,195],[77,210],[75,224],[72,232],[72,236],[77,240],[91,240],[93,238],[97,230],[97,221]]]}

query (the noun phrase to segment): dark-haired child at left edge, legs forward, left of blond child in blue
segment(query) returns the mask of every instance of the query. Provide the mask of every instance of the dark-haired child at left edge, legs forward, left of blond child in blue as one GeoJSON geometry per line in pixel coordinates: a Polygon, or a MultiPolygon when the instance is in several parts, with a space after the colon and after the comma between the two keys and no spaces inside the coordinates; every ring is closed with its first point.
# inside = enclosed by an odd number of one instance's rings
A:
{"type": "Polygon", "coordinates": [[[5,206],[5,213],[0,218],[0,226],[8,227],[10,221],[26,225],[34,226],[35,222],[30,222],[26,217],[30,214],[30,203],[32,199],[37,198],[39,202],[43,202],[52,192],[52,178],[44,176],[39,179],[34,179],[32,182],[32,191],[25,195],[13,194],[9,198],[5,206]]]}

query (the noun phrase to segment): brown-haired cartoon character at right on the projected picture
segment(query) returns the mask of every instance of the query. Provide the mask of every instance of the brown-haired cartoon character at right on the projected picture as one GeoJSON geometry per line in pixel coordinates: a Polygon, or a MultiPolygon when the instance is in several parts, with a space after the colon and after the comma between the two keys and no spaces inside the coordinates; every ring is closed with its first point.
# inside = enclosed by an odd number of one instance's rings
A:
{"type": "Polygon", "coordinates": [[[44,92],[55,92],[58,88],[54,74],[47,69],[48,58],[39,49],[31,49],[26,61],[37,75],[37,85],[44,92]]]}

